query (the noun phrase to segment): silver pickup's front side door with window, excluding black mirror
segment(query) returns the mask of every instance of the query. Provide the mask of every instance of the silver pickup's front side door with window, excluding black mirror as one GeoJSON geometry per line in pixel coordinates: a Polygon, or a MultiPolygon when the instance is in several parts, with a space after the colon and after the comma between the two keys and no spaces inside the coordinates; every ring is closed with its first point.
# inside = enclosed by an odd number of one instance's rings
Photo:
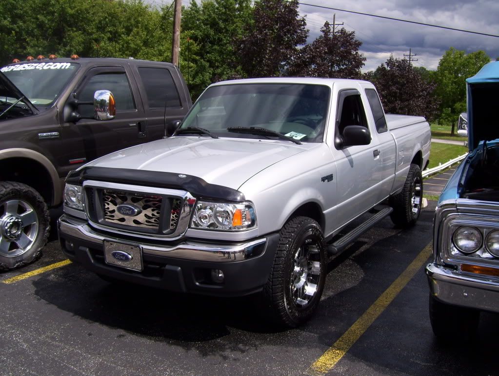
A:
{"type": "Polygon", "coordinates": [[[334,136],[329,147],[337,168],[337,205],[331,211],[331,220],[338,228],[378,202],[380,154],[367,121],[366,113],[370,110],[365,106],[360,90],[342,82],[335,83],[333,88],[337,90],[337,104],[334,136]],[[371,136],[368,145],[342,144],[345,128],[350,125],[368,130],[371,136]]]}

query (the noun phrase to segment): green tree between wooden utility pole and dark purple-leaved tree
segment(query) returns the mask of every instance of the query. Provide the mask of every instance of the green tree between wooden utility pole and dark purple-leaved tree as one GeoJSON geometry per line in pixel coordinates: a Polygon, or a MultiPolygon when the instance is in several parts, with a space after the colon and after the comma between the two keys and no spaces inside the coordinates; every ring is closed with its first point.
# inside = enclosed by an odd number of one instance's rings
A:
{"type": "MultiPolygon", "coordinates": [[[[189,37],[189,45],[197,56],[195,65],[189,70],[193,77],[190,84],[193,97],[212,82],[244,75],[234,40],[241,38],[250,21],[251,0],[204,0],[201,4],[193,0],[183,10],[182,32],[189,37]]],[[[184,43],[182,48],[186,47],[184,43]]],[[[187,54],[184,52],[185,60],[187,54]]]]}

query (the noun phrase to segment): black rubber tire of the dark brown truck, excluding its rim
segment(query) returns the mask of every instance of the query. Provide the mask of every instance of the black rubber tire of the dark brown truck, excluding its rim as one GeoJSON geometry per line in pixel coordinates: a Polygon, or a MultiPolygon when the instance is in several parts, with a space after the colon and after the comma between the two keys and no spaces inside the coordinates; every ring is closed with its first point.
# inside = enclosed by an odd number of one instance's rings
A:
{"type": "Polygon", "coordinates": [[[6,271],[21,267],[23,265],[27,265],[37,260],[41,256],[41,249],[47,244],[48,234],[50,232],[50,215],[48,213],[47,204],[43,201],[41,195],[29,185],[13,182],[13,181],[1,181],[0,182],[0,202],[2,200],[2,196],[4,192],[7,191],[16,191],[18,192],[18,196],[25,197],[28,196],[31,199],[31,204],[34,208],[40,208],[41,210],[37,213],[39,215],[40,223],[38,224],[38,239],[35,242],[38,242],[38,247],[35,252],[27,255],[27,258],[21,259],[13,265],[8,265],[0,260],[0,271],[6,271]]]}

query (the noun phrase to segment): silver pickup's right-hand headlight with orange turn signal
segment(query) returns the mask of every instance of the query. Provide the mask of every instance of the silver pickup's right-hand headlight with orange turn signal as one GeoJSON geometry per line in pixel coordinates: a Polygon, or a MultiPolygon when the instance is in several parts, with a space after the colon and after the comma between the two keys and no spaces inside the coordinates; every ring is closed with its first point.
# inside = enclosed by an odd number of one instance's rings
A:
{"type": "Polygon", "coordinates": [[[254,208],[249,203],[227,204],[200,201],[196,205],[192,228],[241,231],[256,228],[254,208]]]}

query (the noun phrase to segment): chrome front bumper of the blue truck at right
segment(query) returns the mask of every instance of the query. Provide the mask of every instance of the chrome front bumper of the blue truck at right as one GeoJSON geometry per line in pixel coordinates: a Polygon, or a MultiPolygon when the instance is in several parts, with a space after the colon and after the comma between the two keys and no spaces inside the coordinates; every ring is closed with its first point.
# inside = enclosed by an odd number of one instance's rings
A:
{"type": "Polygon", "coordinates": [[[499,312],[499,283],[482,275],[463,273],[435,264],[426,266],[430,293],[439,301],[481,311],[499,312]]]}

